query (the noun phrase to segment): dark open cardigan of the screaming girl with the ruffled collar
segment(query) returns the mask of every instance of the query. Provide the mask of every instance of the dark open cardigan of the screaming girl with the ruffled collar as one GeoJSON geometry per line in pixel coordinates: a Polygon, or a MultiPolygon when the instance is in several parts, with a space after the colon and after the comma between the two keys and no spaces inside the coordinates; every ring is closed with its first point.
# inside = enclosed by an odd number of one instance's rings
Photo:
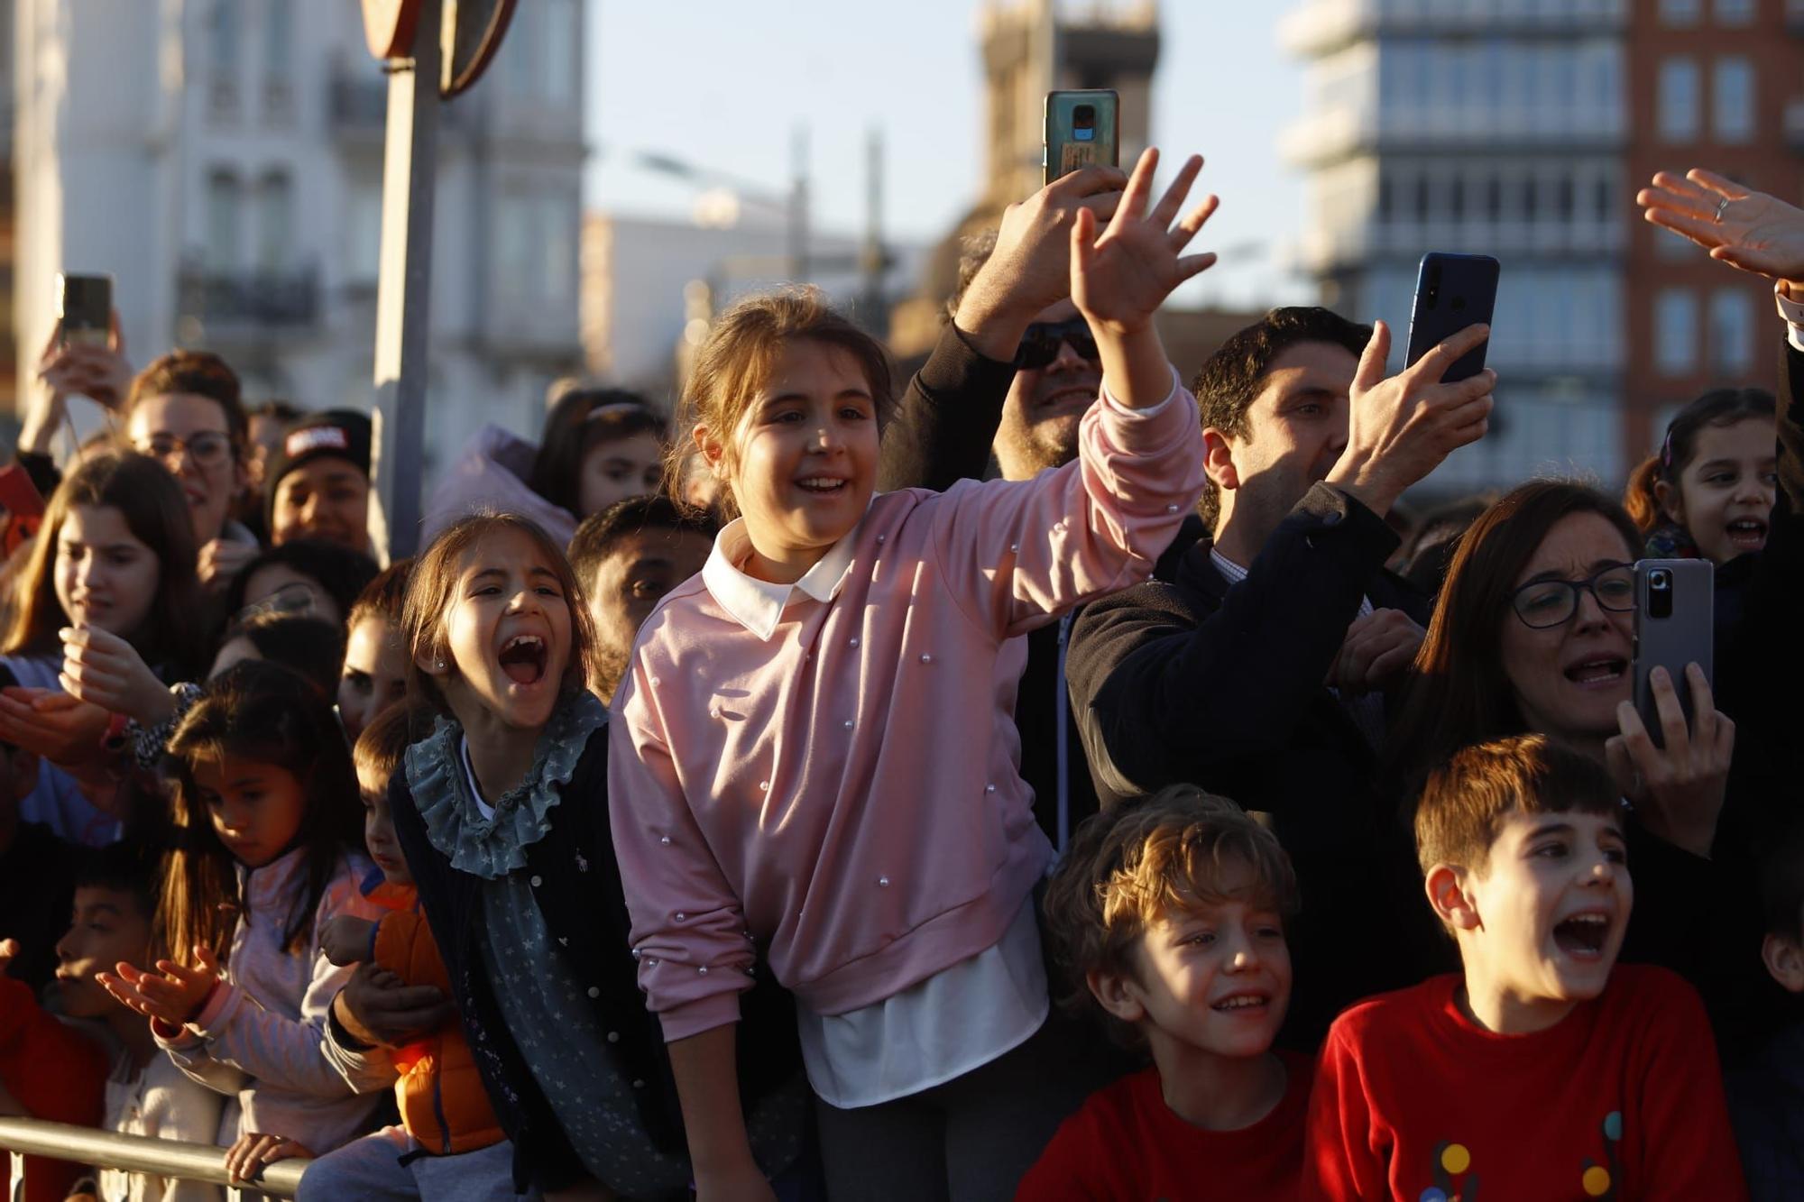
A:
{"type": "MultiPolygon", "coordinates": [[[[608,1043],[606,1052],[613,1058],[615,1072],[635,1086],[640,1124],[662,1151],[684,1153],[682,1110],[664,1050],[664,1029],[646,1009],[639,991],[639,966],[630,942],[631,920],[613,857],[606,726],[590,735],[561,798],[550,810],[550,832],[527,848],[523,872],[539,899],[547,929],[568,953],[570,969],[579,982],[590,982],[601,1029],[621,1036],[608,1043]]],[[[420,904],[451,978],[464,1034],[494,1114],[514,1142],[514,1188],[536,1184],[556,1189],[586,1177],[588,1170],[570,1148],[494,1000],[476,946],[476,931],[483,922],[483,881],[453,868],[426,837],[426,823],[413,803],[406,772],[395,772],[388,800],[395,836],[419,884],[420,904]]],[[[761,1096],[792,1076],[801,1063],[792,1005],[769,973],[741,998],[743,1029],[756,1032],[756,1038],[740,1041],[743,1096],[761,1096]]]]}

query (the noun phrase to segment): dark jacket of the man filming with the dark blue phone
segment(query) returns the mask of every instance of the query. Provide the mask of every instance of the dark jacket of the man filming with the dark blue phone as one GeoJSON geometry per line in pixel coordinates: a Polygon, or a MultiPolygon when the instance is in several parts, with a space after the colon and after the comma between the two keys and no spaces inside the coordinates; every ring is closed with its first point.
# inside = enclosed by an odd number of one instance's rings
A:
{"type": "Polygon", "coordinates": [[[1230,588],[1203,540],[1174,581],[1091,601],[1072,632],[1072,704],[1104,803],[1191,783],[1272,816],[1304,899],[1286,1025],[1301,1045],[1348,1002],[1441,962],[1400,798],[1322,684],[1362,597],[1427,621],[1423,597],[1384,570],[1396,543],[1384,518],[1319,484],[1245,581],[1230,588]]]}

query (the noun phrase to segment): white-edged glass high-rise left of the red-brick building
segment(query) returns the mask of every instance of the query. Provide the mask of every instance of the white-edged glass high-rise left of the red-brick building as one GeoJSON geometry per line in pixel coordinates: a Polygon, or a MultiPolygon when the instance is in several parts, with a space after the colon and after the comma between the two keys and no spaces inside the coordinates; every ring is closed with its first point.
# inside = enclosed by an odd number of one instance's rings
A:
{"type": "Polygon", "coordinates": [[[1322,303],[1384,318],[1400,366],[1422,254],[1503,264],[1494,428],[1427,493],[1625,473],[1627,2],[1310,0],[1284,18],[1308,60],[1284,152],[1310,171],[1299,258],[1322,303]]]}

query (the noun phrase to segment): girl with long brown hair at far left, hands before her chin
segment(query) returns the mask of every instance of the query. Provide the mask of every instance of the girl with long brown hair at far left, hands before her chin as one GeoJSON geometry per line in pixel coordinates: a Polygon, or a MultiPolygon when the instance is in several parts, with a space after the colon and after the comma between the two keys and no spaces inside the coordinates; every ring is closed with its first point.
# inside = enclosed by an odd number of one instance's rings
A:
{"type": "Polygon", "coordinates": [[[0,641],[0,740],[41,756],[25,821],[117,837],[124,717],[173,715],[200,666],[195,531],[180,485],[132,451],[81,460],[51,498],[0,641]]]}

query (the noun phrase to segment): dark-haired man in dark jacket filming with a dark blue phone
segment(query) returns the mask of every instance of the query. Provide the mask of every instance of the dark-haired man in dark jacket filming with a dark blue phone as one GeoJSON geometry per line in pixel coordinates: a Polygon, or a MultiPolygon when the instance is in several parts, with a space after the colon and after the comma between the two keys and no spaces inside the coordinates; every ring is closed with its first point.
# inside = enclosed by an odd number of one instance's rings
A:
{"type": "Polygon", "coordinates": [[[1313,899],[1288,931],[1313,982],[1292,998],[1293,1040],[1420,980],[1432,966],[1416,949],[1440,946],[1380,769],[1384,688],[1427,621],[1384,570],[1398,543],[1384,514],[1483,437],[1496,377],[1441,374],[1486,334],[1470,327],[1389,379],[1382,325],[1275,309],[1234,334],[1191,386],[1210,536],[1072,630],[1072,707],[1104,803],[1192,783],[1272,816],[1313,899]]]}

